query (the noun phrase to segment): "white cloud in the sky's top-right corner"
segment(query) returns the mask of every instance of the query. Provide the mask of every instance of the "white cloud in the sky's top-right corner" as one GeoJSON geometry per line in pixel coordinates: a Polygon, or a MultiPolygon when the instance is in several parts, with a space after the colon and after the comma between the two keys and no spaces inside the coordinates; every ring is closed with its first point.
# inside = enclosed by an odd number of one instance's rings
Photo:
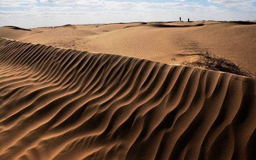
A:
{"type": "Polygon", "coordinates": [[[253,3],[256,0],[208,0],[208,2],[224,5],[227,8],[238,8],[242,11],[256,11],[253,3]]]}

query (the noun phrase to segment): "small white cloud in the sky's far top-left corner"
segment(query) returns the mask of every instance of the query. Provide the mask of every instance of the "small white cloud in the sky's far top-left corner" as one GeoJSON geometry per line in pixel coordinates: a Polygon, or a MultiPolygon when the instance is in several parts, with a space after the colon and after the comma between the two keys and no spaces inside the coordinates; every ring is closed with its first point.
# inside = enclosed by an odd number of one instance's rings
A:
{"type": "Polygon", "coordinates": [[[37,3],[36,0],[0,0],[1,7],[23,7],[23,4],[37,3]]]}

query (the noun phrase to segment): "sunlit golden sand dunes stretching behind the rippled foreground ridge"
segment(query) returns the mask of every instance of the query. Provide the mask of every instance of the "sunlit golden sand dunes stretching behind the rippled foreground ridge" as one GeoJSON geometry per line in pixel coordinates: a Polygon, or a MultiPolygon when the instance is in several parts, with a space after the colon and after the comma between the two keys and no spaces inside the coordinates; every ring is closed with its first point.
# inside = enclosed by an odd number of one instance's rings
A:
{"type": "Polygon", "coordinates": [[[149,22],[67,25],[31,31],[0,28],[0,36],[24,42],[181,64],[208,51],[256,74],[256,22],[149,22]],[[175,60],[172,60],[175,58],[175,60]]]}

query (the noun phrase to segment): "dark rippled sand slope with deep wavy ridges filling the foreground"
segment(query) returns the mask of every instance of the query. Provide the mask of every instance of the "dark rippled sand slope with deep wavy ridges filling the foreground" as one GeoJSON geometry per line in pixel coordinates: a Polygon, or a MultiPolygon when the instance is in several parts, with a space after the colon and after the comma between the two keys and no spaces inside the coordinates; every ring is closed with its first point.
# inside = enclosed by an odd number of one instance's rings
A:
{"type": "Polygon", "coordinates": [[[256,80],[0,39],[0,160],[255,160],[256,80]]]}

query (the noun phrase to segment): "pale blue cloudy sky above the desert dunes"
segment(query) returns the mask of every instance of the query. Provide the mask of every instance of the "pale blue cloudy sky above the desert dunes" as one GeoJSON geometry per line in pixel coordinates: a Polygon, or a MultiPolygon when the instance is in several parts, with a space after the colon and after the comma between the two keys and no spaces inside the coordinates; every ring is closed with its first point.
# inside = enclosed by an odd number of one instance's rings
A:
{"type": "Polygon", "coordinates": [[[256,0],[0,0],[0,26],[256,20],[256,0]]]}

